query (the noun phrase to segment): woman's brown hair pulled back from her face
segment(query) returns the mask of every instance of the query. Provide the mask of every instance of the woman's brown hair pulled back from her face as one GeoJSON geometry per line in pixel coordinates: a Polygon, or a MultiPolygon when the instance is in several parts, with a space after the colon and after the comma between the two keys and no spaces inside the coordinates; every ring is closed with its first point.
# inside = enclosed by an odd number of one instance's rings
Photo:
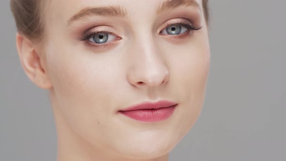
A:
{"type": "MultiPolygon", "coordinates": [[[[17,31],[31,40],[41,40],[44,33],[44,6],[48,0],[10,0],[17,31]]],[[[203,0],[206,22],[209,21],[208,0],[203,0]]]]}

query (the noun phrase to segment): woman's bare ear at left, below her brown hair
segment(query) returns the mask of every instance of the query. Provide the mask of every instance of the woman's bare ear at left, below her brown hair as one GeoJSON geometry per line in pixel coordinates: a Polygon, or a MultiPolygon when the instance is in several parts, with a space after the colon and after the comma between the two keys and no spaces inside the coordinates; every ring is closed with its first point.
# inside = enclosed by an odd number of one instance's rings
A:
{"type": "Polygon", "coordinates": [[[35,45],[28,38],[17,32],[16,47],[20,63],[28,78],[40,88],[51,88],[52,85],[48,75],[41,65],[41,62],[43,62],[41,59],[43,58],[36,52],[35,45]]]}

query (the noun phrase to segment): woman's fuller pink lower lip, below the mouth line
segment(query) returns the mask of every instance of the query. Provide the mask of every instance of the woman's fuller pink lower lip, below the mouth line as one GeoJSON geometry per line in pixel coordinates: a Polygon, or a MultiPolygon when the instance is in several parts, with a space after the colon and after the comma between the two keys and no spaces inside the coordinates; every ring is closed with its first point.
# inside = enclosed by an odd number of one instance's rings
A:
{"type": "Polygon", "coordinates": [[[134,120],[143,122],[158,122],[168,119],[174,113],[175,107],[176,105],[159,109],[143,109],[119,112],[134,120]]]}

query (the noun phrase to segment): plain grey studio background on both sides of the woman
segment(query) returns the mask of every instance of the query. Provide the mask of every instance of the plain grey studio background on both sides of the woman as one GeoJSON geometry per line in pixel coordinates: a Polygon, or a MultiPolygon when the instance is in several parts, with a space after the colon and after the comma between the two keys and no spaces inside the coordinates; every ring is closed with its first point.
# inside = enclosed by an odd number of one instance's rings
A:
{"type": "MultiPolygon", "coordinates": [[[[210,0],[205,106],[170,161],[286,161],[285,6],[210,0]]],[[[48,95],[20,66],[9,0],[0,22],[0,161],[56,161],[48,95]]]]}

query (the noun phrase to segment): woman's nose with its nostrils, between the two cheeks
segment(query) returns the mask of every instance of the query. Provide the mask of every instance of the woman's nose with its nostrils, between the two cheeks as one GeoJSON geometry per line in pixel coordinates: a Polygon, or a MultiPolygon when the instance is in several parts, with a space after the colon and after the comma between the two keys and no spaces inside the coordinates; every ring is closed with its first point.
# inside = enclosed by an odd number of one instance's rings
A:
{"type": "Polygon", "coordinates": [[[137,88],[156,87],[166,84],[170,79],[164,54],[154,41],[149,40],[148,43],[137,43],[128,53],[130,59],[127,80],[137,88]]]}

